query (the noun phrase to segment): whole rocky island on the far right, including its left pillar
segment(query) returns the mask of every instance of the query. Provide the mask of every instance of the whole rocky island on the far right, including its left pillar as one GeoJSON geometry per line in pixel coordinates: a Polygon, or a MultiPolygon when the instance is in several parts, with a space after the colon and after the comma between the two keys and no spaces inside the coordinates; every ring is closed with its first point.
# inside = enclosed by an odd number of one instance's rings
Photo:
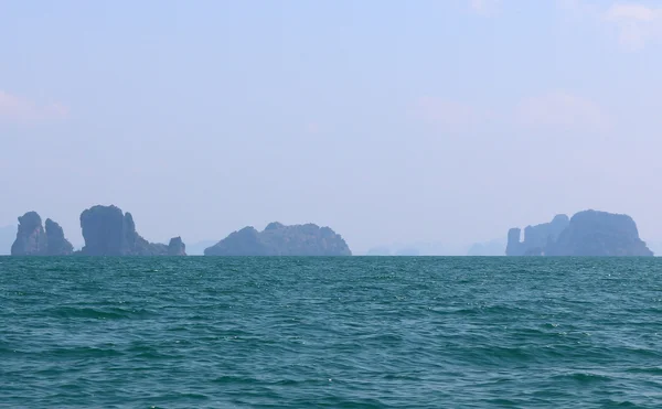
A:
{"type": "Polygon", "coordinates": [[[506,256],[653,256],[628,215],[584,211],[564,216],[527,227],[524,241],[519,228],[510,229],[506,256]]]}

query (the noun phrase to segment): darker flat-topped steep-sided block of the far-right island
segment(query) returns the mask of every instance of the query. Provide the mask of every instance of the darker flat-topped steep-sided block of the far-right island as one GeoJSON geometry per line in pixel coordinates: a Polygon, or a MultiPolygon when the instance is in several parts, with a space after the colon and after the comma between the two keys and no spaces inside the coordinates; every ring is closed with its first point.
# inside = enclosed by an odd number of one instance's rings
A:
{"type": "Polygon", "coordinates": [[[634,220],[622,214],[585,211],[547,249],[549,256],[653,256],[639,238],[634,220]]]}

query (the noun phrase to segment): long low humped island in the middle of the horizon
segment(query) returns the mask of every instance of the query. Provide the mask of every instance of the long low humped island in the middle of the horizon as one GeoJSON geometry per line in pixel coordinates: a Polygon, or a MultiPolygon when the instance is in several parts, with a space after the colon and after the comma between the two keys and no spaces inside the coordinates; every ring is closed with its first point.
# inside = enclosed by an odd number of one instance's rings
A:
{"type": "Polygon", "coordinates": [[[344,239],[314,224],[269,224],[263,232],[245,227],[204,250],[205,256],[351,256],[344,239]]]}

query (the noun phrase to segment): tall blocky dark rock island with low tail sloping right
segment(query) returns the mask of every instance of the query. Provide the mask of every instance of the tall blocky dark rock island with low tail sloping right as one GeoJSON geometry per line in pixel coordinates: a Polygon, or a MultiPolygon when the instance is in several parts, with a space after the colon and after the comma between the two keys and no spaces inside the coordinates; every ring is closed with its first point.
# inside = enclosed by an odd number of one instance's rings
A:
{"type": "MultiPolygon", "coordinates": [[[[84,256],[167,256],[169,246],[147,241],[130,213],[117,206],[93,206],[81,214],[84,256]]],[[[180,239],[181,241],[181,239],[180,239]]],[[[183,243],[182,243],[183,246],[183,243]]]]}

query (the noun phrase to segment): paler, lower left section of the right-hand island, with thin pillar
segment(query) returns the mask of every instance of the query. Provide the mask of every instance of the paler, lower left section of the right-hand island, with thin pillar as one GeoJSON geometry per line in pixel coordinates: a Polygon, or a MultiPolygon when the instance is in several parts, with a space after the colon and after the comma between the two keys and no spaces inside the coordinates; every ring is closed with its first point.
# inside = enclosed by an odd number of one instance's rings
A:
{"type": "Polygon", "coordinates": [[[511,228],[508,232],[505,255],[542,256],[547,245],[555,241],[568,224],[568,216],[556,215],[549,223],[526,226],[524,229],[524,241],[520,241],[521,230],[519,228],[511,228]]]}

